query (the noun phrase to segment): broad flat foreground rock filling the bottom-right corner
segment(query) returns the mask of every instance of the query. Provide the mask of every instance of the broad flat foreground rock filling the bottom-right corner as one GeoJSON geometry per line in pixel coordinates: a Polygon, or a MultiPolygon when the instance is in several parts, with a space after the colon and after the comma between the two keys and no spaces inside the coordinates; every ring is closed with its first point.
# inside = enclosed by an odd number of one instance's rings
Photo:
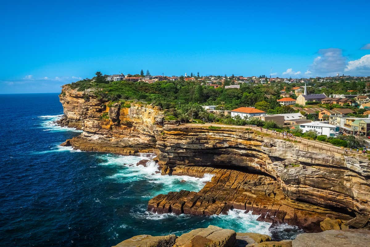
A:
{"type": "Polygon", "coordinates": [[[292,247],[317,246],[370,246],[370,231],[364,229],[348,229],[327,230],[321,233],[302,233],[292,241],[292,247]]]}

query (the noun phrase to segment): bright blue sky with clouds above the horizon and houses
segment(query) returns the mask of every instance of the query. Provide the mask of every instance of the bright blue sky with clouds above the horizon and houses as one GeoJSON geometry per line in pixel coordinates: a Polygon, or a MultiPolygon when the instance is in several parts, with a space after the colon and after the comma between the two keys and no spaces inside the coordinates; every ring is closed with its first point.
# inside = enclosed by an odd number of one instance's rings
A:
{"type": "Polygon", "coordinates": [[[185,72],[370,75],[367,1],[18,1],[0,9],[0,93],[185,72]]]}

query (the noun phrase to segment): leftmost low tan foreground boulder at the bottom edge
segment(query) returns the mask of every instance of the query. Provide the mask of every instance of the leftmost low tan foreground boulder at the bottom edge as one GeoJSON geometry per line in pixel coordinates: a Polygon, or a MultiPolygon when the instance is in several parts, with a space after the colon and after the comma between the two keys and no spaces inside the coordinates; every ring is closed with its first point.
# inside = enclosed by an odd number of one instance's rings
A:
{"type": "Polygon", "coordinates": [[[167,236],[151,236],[151,235],[138,235],[126,239],[113,247],[157,247],[162,245],[161,241],[165,241],[169,246],[175,243],[176,236],[174,234],[167,236]]]}

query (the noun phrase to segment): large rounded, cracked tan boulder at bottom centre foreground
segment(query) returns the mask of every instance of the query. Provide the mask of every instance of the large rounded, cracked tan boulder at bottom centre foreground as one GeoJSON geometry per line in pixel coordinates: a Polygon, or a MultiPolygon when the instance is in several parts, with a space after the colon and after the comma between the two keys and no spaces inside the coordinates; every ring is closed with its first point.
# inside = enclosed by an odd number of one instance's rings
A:
{"type": "Polygon", "coordinates": [[[230,229],[217,226],[198,228],[182,234],[176,239],[175,247],[233,247],[236,233],[230,229]]]}

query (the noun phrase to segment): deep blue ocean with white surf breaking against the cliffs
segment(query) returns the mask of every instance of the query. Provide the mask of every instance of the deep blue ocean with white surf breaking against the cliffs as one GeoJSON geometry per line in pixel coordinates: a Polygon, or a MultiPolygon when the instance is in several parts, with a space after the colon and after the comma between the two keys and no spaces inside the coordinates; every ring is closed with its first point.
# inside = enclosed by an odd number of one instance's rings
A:
{"type": "Polygon", "coordinates": [[[145,157],[59,146],[81,131],[55,125],[63,114],[58,94],[0,94],[0,110],[0,246],[112,246],[210,224],[276,238],[300,231],[269,230],[243,210],[210,217],[148,212],[155,195],[199,191],[212,175],[161,176],[154,162],[135,165],[145,157]]]}

